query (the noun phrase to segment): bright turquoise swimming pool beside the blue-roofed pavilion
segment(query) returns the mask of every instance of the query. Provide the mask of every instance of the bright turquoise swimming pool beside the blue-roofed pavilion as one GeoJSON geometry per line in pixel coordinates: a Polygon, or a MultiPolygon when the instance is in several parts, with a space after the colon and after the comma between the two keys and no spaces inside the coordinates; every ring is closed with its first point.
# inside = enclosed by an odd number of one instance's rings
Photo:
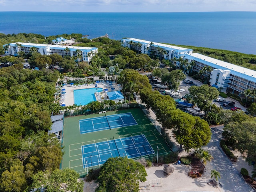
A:
{"type": "Polygon", "coordinates": [[[74,90],[74,103],[76,105],[87,105],[91,101],[96,101],[95,92],[102,92],[102,88],[88,88],[74,90]]]}

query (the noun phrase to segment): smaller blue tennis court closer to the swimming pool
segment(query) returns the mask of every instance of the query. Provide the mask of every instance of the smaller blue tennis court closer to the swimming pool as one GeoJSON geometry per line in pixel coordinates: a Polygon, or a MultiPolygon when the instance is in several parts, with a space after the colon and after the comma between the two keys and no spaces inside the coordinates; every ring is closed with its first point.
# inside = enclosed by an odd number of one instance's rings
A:
{"type": "MultiPolygon", "coordinates": [[[[103,114],[104,115],[104,114],[103,114]]],[[[79,120],[80,134],[138,125],[131,113],[104,115],[79,120]]]]}

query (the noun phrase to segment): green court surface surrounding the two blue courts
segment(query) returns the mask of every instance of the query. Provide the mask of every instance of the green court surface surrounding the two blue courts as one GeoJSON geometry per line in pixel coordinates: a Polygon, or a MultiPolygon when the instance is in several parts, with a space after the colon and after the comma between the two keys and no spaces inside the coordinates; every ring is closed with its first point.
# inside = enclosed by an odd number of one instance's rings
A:
{"type": "MultiPolygon", "coordinates": [[[[82,165],[81,146],[94,142],[101,142],[104,140],[112,140],[113,137],[116,139],[144,134],[148,142],[152,146],[153,150],[155,151],[155,154],[146,156],[145,158],[154,158],[157,155],[157,147],[159,148],[159,155],[165,155],[171,152],[171,149],[168,147],[164,139],[161,137],[154,125],[150,122],[148,117],[140,108],[109,111],[106,113],[106,115],[120,114],[126,112],[130,112],[132,114],[138,125],[115,128],[111,130],[102,130],[86,134],[80,134],[78,121],[80,119],[99,117],[102,116],[102,114],[66,117],[64,119],[63,129],[64,155],[62,159],[62,169],[66,167],[72,168],[76,170],[80,174],[80,176],[85,176],[86,170],[83,168],[82,165]]],[[[100,165],[91,168],[99,167],[100,165]]]]}

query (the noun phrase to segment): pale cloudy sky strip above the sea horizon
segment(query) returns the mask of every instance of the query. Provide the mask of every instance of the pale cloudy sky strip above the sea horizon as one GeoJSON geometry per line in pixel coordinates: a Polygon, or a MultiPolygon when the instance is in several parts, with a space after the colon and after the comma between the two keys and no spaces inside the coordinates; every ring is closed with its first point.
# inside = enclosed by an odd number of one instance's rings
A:
{"type": "Polygon", "coordinates": [[[256,11],[256,0],[0,0],[0,11],[215,12],[256,11]]]}

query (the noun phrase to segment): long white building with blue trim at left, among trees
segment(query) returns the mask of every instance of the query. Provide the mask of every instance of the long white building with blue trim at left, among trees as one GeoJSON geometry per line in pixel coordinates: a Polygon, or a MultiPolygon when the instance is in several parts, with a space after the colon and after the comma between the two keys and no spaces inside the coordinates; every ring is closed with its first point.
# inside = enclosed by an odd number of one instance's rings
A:
{"type": "Polygon", "coordinates": [[[80,54],[82,61],[90,62],[92,57],[98,53],[98,48],[95,47],[76,47],[76,46],[62,46],[62,45],[49,45],[49,44],[34,44],[34,43],[10,43],[3,45],[5,53],[13,56],[18,56],[19,52],[25,54],[30,53],[32,50],[37,51],[41,55],[58,54],[64,56],[77,56],[80,54]]]}

